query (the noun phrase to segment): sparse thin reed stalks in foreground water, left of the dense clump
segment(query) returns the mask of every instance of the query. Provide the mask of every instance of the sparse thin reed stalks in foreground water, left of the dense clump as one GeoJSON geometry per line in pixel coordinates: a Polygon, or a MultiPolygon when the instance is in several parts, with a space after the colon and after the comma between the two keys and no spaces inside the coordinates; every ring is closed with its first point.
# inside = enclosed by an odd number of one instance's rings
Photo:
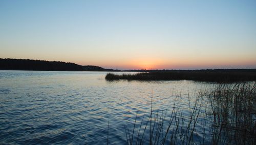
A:
{"type": "Polygon", "coordinates": [[[196,136],[202,99],[198,96],[193,106],[189,104],[188,117],[185,120],[182,111],[176,106],[178,97],[175,97],[172,112],[168,117],[166,115],[167,109],[154,113],[152,97],[151,112],[148,119],[145,121],[143,117],[142,121],[138,123],[136,115],[133,129],[125,129],[127,144],[191,144],[196,136]],[[137,129],[135,129],[136,126],[137,129]],[[145,134],[147,134],[146,137],[145,134]]]}

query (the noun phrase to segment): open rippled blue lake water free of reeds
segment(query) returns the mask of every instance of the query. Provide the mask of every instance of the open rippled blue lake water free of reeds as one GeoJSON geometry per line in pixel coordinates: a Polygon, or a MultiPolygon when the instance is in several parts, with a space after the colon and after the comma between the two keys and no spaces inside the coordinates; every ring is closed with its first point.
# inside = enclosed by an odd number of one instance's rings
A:
{"type": "Polygon", "coordinates": [[[0,144],[125,144],[153,109],[172,109],[174,98],[187,114],[212,84],[195,81],[106,81],[106,72],[0,71],[0,144]]]}

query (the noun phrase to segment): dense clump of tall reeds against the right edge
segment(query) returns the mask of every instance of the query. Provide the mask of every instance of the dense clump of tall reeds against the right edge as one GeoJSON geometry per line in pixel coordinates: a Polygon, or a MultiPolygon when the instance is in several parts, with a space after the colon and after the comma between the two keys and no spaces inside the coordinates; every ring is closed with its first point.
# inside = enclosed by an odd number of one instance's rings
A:
{"type": "Polygon", "coordinates": [[[255,83],[221,84],[208,98],[213,144],[255,144],[255,83]]]}

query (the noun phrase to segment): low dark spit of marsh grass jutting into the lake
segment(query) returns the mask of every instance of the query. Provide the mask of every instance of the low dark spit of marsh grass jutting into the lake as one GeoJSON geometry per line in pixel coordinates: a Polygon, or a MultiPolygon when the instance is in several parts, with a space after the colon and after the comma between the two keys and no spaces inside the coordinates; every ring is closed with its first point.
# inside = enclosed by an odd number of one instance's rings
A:
{"type": "Polygon", "coordinates": [[[108,73],[106,80],[196,80],[208,82],[256,81],[256,69],[234,70],[180,70],[168,72],[141,72],[136,74],[108,73]]]}

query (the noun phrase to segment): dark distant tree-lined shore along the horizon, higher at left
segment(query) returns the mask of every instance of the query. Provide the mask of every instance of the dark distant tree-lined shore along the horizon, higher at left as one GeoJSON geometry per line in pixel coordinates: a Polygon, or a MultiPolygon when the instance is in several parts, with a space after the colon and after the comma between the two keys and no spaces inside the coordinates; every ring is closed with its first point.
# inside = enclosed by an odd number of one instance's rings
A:
{"type": "Polygon", "coordinates": [[[99,72],[255,72],[254,69],[200,69],[200,70],[118,70],[105,69],[99,66],[81,66],[75,63],[59,61],[42,61],[29,59],[1,59],[0,70],[20,71],[99,71],[99,72]]]}

